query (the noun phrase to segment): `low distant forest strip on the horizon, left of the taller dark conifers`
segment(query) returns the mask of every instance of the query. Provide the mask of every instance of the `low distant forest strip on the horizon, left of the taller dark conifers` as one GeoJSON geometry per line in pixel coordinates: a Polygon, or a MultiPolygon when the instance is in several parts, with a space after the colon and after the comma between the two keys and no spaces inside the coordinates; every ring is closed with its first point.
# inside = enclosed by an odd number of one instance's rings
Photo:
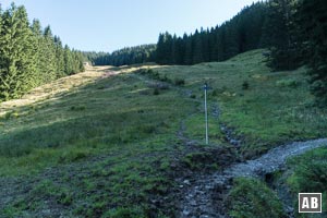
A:
{"type": "Polygon", "coordinates": [[[84,52],[84,56],[94,65],[126,65],[134,63],[154,62],[156,45],[142,45],[135,47],[126,47],[113,51],[106,52],[84,52]]]}

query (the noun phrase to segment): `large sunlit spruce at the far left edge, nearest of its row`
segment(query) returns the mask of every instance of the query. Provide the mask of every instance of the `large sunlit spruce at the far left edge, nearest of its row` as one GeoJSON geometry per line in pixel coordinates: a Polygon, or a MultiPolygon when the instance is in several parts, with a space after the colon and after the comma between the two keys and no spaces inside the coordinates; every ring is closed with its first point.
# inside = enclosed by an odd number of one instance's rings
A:
{"type": "Polygon", "coordinates": [[[24,7],[14,3],[2,14],[0,34],[0,98],[19,97],[35,86],[35,37],[24,7]]]}

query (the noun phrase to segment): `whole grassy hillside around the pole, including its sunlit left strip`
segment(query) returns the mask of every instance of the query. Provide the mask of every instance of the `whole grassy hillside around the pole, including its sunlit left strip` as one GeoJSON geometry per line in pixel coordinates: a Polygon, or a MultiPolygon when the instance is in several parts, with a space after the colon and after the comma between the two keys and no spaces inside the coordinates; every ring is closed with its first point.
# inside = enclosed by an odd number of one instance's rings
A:
{"type": "Polygon", "coordinates": [[[262,50],[226,62],[108,66],[61,78],[0,105],[0,187],[12,193],[0,201],[1,213],[170,217],[178,170],[207,167],[198,159],[229,147],[218,123],[250,158],[279,143],[326,136],[327,111],[312,100],[305,69],[270,72],[262,50]],[[204,82],[213,88],[209,146],[204,82]]]}

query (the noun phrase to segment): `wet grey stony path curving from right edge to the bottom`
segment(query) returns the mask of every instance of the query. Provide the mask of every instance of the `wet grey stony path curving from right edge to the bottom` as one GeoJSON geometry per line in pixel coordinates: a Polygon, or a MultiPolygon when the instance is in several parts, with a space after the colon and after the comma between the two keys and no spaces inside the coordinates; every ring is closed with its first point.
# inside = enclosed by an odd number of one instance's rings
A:
{"type": "Polygon", "coordinates": [[[265,177],[281,169],[287,158],[322,146],[327,146],[327,138],[281,145],[257,159],[233,165],[222,172],[202,175],[192,183],[187,181],[189,186],[183,191],[185,195],[181,201],[180,217],[227,217],[223,197],[230,190],[233,178],[265,177]]]}

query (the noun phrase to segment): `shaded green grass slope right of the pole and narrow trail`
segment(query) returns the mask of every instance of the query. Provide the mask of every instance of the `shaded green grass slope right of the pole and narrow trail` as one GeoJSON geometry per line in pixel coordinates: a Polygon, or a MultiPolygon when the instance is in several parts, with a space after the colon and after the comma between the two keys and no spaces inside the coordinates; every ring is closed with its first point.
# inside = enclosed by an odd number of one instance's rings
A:
{"type": "Polygon", "coordinates": [[[305,68],[271,72],[262,51],[250,51],[226,62],[154,71],[172,81],[184,78],[184,88],[192,90],[196,99],[203,98],[199,88],[208,82],[213,88],[210,102],[221,109],[220,122],[243,138],[242,149],[249,156],[288,141],[326,136],[327,111],[312,107],[305,68]]]}

